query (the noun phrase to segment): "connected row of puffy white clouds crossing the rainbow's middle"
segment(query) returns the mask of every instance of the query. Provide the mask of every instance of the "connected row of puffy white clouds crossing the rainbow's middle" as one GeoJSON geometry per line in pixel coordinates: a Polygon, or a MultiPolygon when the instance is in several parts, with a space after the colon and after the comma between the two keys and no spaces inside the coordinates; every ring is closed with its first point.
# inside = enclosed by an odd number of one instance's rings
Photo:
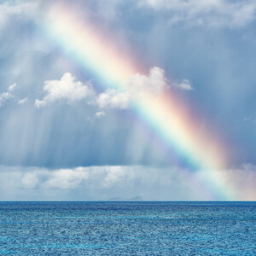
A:
{"type": "MultiPolygon", "coordinates": [[[[181,83],[172,84],[183,90],[192,90],[189,80],[183,79],[181,83]]],[[[92,84],[87,82],[83,84],[75,81],[71,73],[65,73],[61,80],[50,80],[44,82],[44,91],[47,92],[42,100],[36,100],[35,106],[42,108],[54,102],[73,103],[85,100],[87,103],[97,105],[99,108],[129,108],[132,101],[136,101],[141,93],[148,92],[155,96],[168,89],[167,79],[164,69],[152,67],[148,76],[143,74],[134,74],[128,81],[125,90],[110,89],[96,95],[92,84]]],[[[96,116],[105,115],[100,111],[96,116]]]]}

